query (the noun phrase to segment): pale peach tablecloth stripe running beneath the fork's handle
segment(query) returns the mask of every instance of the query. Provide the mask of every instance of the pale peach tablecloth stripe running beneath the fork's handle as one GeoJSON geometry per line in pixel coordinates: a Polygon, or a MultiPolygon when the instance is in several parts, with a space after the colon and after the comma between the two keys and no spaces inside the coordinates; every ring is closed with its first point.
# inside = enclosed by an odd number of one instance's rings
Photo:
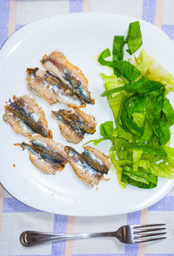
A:
{"type": "MultiPolygon", "coordinates": [[[[74,232],[75,217],[69,216],[67,220],[67,233],[74,232]]],[[[71,256],[73,251],[73,240],[67,240],[65,244],[64,256],[71,256]]]]}

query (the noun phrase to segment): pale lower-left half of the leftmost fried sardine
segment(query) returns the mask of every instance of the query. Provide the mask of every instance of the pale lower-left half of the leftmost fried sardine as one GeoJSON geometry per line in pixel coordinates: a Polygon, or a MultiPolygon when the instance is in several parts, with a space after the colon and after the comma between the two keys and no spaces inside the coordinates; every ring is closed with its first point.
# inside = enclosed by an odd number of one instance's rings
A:
{"type": "Polygon", "coordinates": [[[30,137],[33,131],[28,125],[25,125],[17,116],[10,111],[10,105],[5,105],[5,113],[3,114],[3,121],[11,125],[13,131],[22,134],[25,137],[30,137]]]}

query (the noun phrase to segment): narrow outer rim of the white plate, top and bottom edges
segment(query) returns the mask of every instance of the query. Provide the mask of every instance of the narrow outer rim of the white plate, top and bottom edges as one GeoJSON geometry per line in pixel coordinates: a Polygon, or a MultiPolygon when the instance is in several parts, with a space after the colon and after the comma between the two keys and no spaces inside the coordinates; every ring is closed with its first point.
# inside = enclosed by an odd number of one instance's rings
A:
{"type": "MultiPolygon", "coordinates": [[[[26,25],[24,25],[22,28],[20,28],[19,30],[17,30],[16,32],[14,32],[9,38],[7,38],[7,40],[3,43],[3,45],[2,45],[2,47],[1,47],[1,49],[0,49],[0,64],[3,62],[3,57],[2,57],[2,55],[3,55],[3,51],[5,51],[5,48],[8,48],[9,47],[9,45],[10,45],[10,42],[11,42],[11,40],[13,40],[13,37],[17,37],[17,35],[20,35],[21,34],[21,31],[23,31],[23,30],[26,30],[26,29],[28,29],[28,28],[30,28],[30,26],[32,27],[33,25],[35,25],[35,24],[37,24],[37,25],[39,25],[39,24],[42,24],[42,23],[45,23],[45,22],[47,22],[47,21],[50,21],[50,20],[57,20],[57,19],[61,19],[61,18],[70,18],[70,17],[102,17],[102,16],[109,16],[109,17],[120,17],[120,18],[129,18],[129,19],[131,19],[131,20],[133,20],[133,21],[136,21],[136,20],[138,20],[138,21],[140,21],[140,22],[143,22],[144,24],[148,24],[148,25],[150,25],[151,27],[153,27],[153,29],[155,29],[155,30],[158,30],[158,31],[160,31],[162,34],[164,34],[164,36],[166,37],[166,38],[168,38],[168,41],[169,42],[171,42],[171,44],[173,44],[173,42],[171,41],[171,39],[170,39],[170,37],[168,37],[165,33],[164,33],[164,31],[163,30],[160,30],[160,29],[158,29],[155,25],[153,25],[153,24],[150,24],[150,23],[148,23],[148,22],[146,22],[146,21],[144,21],[144,20],[142,20],[142,19],[140,19],[140,18],[136,18],[136,17],[131,17],[131,16],[126,16],[126,15],[117,15],[117,14],[112,14],[112,13],[105,13],[105,12],[87,12],[87,13],[69,13],[69,14],[62,14],[62,15],[56,15],[56,16],[50,16],[50,17],[43,17],[43,18],[41,18],[41,19],[38,19],[38,20],[36,20],[36,21],[33,21],[33,22],[31,22],[31,23],[29,23],[29,24],[26,24],[26,25]]],[[[1,176],[0,176],[0,178],[1,178],[1,176]]],[[[30,206],[31,208],[34,208],[34,209],[36,209],[36,210],[38,210],[38,211],[42,211],[42,212],[50,212],[50,213],[54,213],[54,214],[62,214],[62,215],[66,215],[66,216],[78,216],[78,217],[104,217],[104,216],[114,216],[114,215],[118,215],[118,214],[125,214],[125,213],[131,213],[131,212],[136,212],[136,211],[139,211],[139,210],[142,210],[142,209],[144,209],[144,208],[147,208],[147,207],[149,207],[149,206],[151,206],[151,205],[154,205],[154,204],[156,204],[158,201],[160,201],[161,199],[163,199],[165,196],[166,196],[166,194],[168,193],[168,192],[170,192],[171,191],[171,189],[174,187],[174,180],[170,180],[170,184],[167,186],[167,188],[164,190],[164,193],[162,193],[160,196],[158,196],[157,197],[157,199],[152,199],[149,203],[147,202],[146,204],[144,204],[144,206],[142,207],[141,205],[137,205],[137,207],[136,206],[134,206],[132,209],[128,209],[127,211],[117,211],[117,212],[114,212],[114,211],[112,211],[112,212],[110,212],[110,213],[108,213],[108,214],[94,214],[94,213],[92,213],[92,214],[86,214],[86,215],[84,215],[84,214],[78,214],[77,212],[76,212],[76,214],[67,214],[67,213],[65,213],[64,212],[64,210],[62,211],[61,209],[59,209],[59,212],[57,212],[57,211],[54,211],[54,210],[47,210],[47,209],[43,209],[43,207],[37,207],[35,204],[30,204],[30,202],[27,202],[27,199],[25,199],[25,197],[23,197],[23,199],[20,199],[20,197],[16,197],[15,195],[13,195],[13,191],[12,191],[12,188],[10,189],[10,188],[7,188],[6,189],[6,182],[4,181],[3,183],[2,183],[2,181],[0,181],[0,184],[3,186],[3,188],[7,191],[7,192],[9,192],[10,193],[10,196],[12,196],[14,199],[17,199],[19,202],[21,202],[21,203],[23,203],[24,205],[28,205],[28,206],[30,206]],[[34,205],[34,206],[33,206],[34,205]]],[[[72,210],[70,210],[71,212],[73,212],[72,210]]]]}

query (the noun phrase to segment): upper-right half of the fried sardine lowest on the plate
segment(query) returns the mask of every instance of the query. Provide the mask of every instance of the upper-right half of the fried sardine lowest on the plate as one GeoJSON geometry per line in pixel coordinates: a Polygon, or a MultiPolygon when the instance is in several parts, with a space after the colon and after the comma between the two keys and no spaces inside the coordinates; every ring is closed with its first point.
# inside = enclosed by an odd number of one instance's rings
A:
{"type": "Polygon", "coordinates": [[[111,161],[103,152],[100,152],[91,146],[84,146],[82,156],[92,168],[97,170],[97,172],[106,174],[109,172],[111,161]]]}

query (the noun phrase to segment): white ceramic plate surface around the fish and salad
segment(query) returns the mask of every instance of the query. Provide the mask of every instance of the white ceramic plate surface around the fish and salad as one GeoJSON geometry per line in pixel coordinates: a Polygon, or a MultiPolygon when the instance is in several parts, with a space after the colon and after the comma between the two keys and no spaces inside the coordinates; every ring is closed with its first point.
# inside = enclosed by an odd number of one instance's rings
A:
{"type": "MultiPolygon", "coordinates": [[[[80,152],[81,146],[90,139],[99,138],[99,125],[113,119],[106,98],[100,95],[104,91],[101,72],[110,71],[97,64],[99,52],[112,45],[114,35],[126,35],[132,17],[110,14],[74,14],[49,17],[18,30],[3,45],[0,51],[0,131],[1,131],[1,171],[2,185],[18,200],[45,212],[66,215],[104,216],[133,212],[154,204],[170,191],[173,182],[159,179],[157,188],[143,190],[133,186],[121,189],[117,183],[116,173],[110,171],[110,181],[103,181],[96,188],[89,188],[77,178],[70,165],[55,176],[38,171],[29,160],[27,151],[13,145],[25,140],[15,134],[2,121],[3,105],[13,94],[21,96],[28,93],[25,82],[27,67],[41,66],[39,60],[43,54],[51,51],[63,51],[72,64],[77,64],[89,80],[91,95],[96,99],[95,105],[87,106],[85,111],[97,118],[97,132],[86,135],[84,140],[75,145],[80,152]],[[13,167],[13,164],[16,167],[13,167]]],[[[169,71],[174,73],[174,45],[161,30],[151,24],[140,22],[143,34],[143,47],[169,71]]],[[[172,97],[172,96],[171,96],[172,97]]],[[[54,139],[68,144],[61,136],[57,121],[50,116],[50,110],[57,110],[61,104],[52,107],[41,98],[42,105],[54,139]]],[[[108,154],[109,142],[103,142],[98,149],[108,154]]]]}

